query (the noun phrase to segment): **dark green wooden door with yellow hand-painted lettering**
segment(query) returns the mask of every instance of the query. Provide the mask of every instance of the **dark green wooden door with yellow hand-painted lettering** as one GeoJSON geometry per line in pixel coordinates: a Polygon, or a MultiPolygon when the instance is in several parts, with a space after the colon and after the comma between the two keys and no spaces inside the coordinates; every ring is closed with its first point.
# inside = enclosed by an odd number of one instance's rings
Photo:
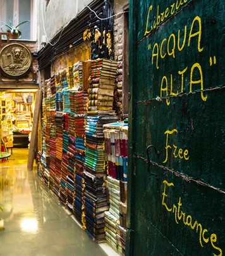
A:
{"type": "Polygon", "coordinates": [[[130,0],[126,255],[225,252],[223,55],[224,1],[130,0]]]}

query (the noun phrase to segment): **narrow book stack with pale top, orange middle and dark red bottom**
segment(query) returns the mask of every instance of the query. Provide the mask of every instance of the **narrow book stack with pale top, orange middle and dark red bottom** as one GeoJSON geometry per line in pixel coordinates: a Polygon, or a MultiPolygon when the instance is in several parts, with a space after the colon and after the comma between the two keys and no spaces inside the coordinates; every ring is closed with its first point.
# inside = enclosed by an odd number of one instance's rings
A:
{"type": "Polygon", "coordinates": [[[61,167],[63,158],[63,112],[56,112],[56,172],[54,193],[59,195],[59,186],[61,178],[61,167]]]}

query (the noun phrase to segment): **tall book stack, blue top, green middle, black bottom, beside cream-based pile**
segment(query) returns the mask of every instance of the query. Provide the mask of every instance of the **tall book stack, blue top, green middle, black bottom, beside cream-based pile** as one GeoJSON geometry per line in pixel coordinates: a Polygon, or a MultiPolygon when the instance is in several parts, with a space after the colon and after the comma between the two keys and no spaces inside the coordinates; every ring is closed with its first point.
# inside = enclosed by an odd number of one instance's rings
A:
{"type": "Polygon", "coordinates": [[[85,226],[88,234],[95,241],[104,241],[104,211],[109,208],[107,203],[104,134],[103,125],[115,122],[115,115],[100,115],[86,117],[86,157],[85,157],[85,226]],[[99,207],[99,205],[100,207],[99,207]]]}

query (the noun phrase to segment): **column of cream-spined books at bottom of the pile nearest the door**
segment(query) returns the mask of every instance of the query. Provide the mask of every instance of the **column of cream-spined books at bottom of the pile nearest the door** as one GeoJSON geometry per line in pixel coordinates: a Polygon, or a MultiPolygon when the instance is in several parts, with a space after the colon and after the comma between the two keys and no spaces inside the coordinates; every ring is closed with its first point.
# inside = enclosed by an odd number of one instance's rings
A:
{"type": "Polygon", "coordinates": [[[107,194],[109,195],[109,212],[105,213],[106,221],[106,240],[109,245],[113,245],[114,250],[121,252],[122,248],[116,241],[116,223],[119,221],[119,181],[113,177],[107,176],[106,180],[107,194]],[[110,217],[109,216],[113,216],[110,217]],[[113,226],[109,221],[113,221],[113,226]]]}

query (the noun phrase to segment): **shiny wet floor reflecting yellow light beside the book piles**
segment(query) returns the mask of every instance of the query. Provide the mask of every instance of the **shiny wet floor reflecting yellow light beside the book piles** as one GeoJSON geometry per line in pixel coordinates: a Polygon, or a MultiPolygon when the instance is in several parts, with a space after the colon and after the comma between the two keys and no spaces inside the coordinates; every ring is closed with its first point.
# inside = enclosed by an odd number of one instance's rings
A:
{"type": "Polygon", "coordinates": [[[78,226],[42,184],[37,166],[27,171],[27,157],[27,149],[13,149],[0,161],[0,255],[118,255],[78,226]]]}

